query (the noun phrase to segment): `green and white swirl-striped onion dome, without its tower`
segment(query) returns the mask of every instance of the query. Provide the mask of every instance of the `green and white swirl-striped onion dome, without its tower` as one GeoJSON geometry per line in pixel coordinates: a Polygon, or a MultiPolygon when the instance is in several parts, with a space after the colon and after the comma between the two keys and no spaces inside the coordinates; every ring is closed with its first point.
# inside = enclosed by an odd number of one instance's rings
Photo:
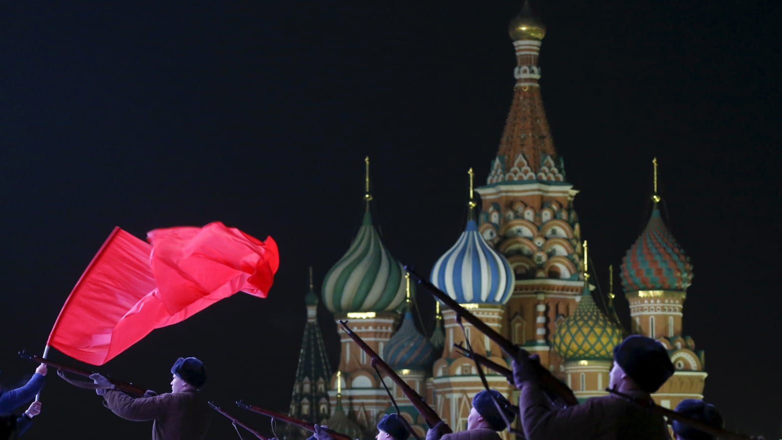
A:
{"type": "Polygon", "coordinates": [[[394,312],[404,298],[404,268],[382,245],[367,211],[350,249],[326,274],[324,305],[332,313],[394,312]]]}

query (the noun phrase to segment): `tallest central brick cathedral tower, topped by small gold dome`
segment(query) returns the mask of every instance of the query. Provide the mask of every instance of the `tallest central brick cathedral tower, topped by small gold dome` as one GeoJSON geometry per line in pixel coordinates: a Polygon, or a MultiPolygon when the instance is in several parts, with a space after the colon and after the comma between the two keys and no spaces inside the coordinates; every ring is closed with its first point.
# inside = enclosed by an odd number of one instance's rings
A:
{"type": "Polygon", "coordinates": [[[504,313],[504,334],[562,377],[561,358],[550,351],[558,320],[576,309],[581,249],[576,192],[565,181],[540,95],[538,54],[545,27],[529,0],[511,20],[516,84],[482,199],[479,231],[501,252],[515,273],[504,313]]]}

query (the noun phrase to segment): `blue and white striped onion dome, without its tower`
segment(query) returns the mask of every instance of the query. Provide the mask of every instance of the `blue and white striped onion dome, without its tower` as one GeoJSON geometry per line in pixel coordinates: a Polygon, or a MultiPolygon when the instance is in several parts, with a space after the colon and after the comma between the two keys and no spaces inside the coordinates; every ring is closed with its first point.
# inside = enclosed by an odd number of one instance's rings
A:
{"type": "Polygon", "coordinates": [[[429,279],[462,304],[504,304],[515,283],[508,260],[481,237],[475,220],[468,220],[459,241],[437,260],[429,279]]]}

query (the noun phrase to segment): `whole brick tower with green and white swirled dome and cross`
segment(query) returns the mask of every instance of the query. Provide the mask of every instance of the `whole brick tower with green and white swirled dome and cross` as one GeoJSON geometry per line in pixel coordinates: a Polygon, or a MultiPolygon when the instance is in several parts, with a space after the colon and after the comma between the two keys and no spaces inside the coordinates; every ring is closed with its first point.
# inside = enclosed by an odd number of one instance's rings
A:
{"type": "MultiPolygon", "coordinates": [[[[323,281],[323,302],[335,320],[349,320],[350,328],[375,352],[382,353],[399,318],[396,311],[405,299],[402,265],[382,245],[372,224],[369,206],[369,158],[366,163],[364,220],[350,248],[323,281]]],[[[411,294],[414,292],[411,292],[411,294]]],[[[337,326],[341,353],[339,367],[342,384],[342,406],[347,417],[361,425],[361,438],[375,437],[375,424],[389,405],[385,388],[378,381],[366,353],[358,348],[337,326]]],[[[329,391],[336,408],[337,377],[332,377],[329,391]]],[[[347,434],[347,433],[346,433],[347,434]]]]}

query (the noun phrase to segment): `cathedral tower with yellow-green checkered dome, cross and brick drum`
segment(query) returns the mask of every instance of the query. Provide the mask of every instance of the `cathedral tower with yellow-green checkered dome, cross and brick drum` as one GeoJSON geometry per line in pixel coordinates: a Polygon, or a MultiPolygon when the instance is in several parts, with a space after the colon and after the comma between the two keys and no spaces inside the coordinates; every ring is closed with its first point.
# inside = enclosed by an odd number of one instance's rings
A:
{"type": "Polygon", "coordinates": [[[576,311],[554,331],[554,349],[565,359],[565,381],[579,400],[604,395],[615,345],[622,330],[597,307],[589,287],[587,241],[584,241],[583,294],[576,311]]]}

